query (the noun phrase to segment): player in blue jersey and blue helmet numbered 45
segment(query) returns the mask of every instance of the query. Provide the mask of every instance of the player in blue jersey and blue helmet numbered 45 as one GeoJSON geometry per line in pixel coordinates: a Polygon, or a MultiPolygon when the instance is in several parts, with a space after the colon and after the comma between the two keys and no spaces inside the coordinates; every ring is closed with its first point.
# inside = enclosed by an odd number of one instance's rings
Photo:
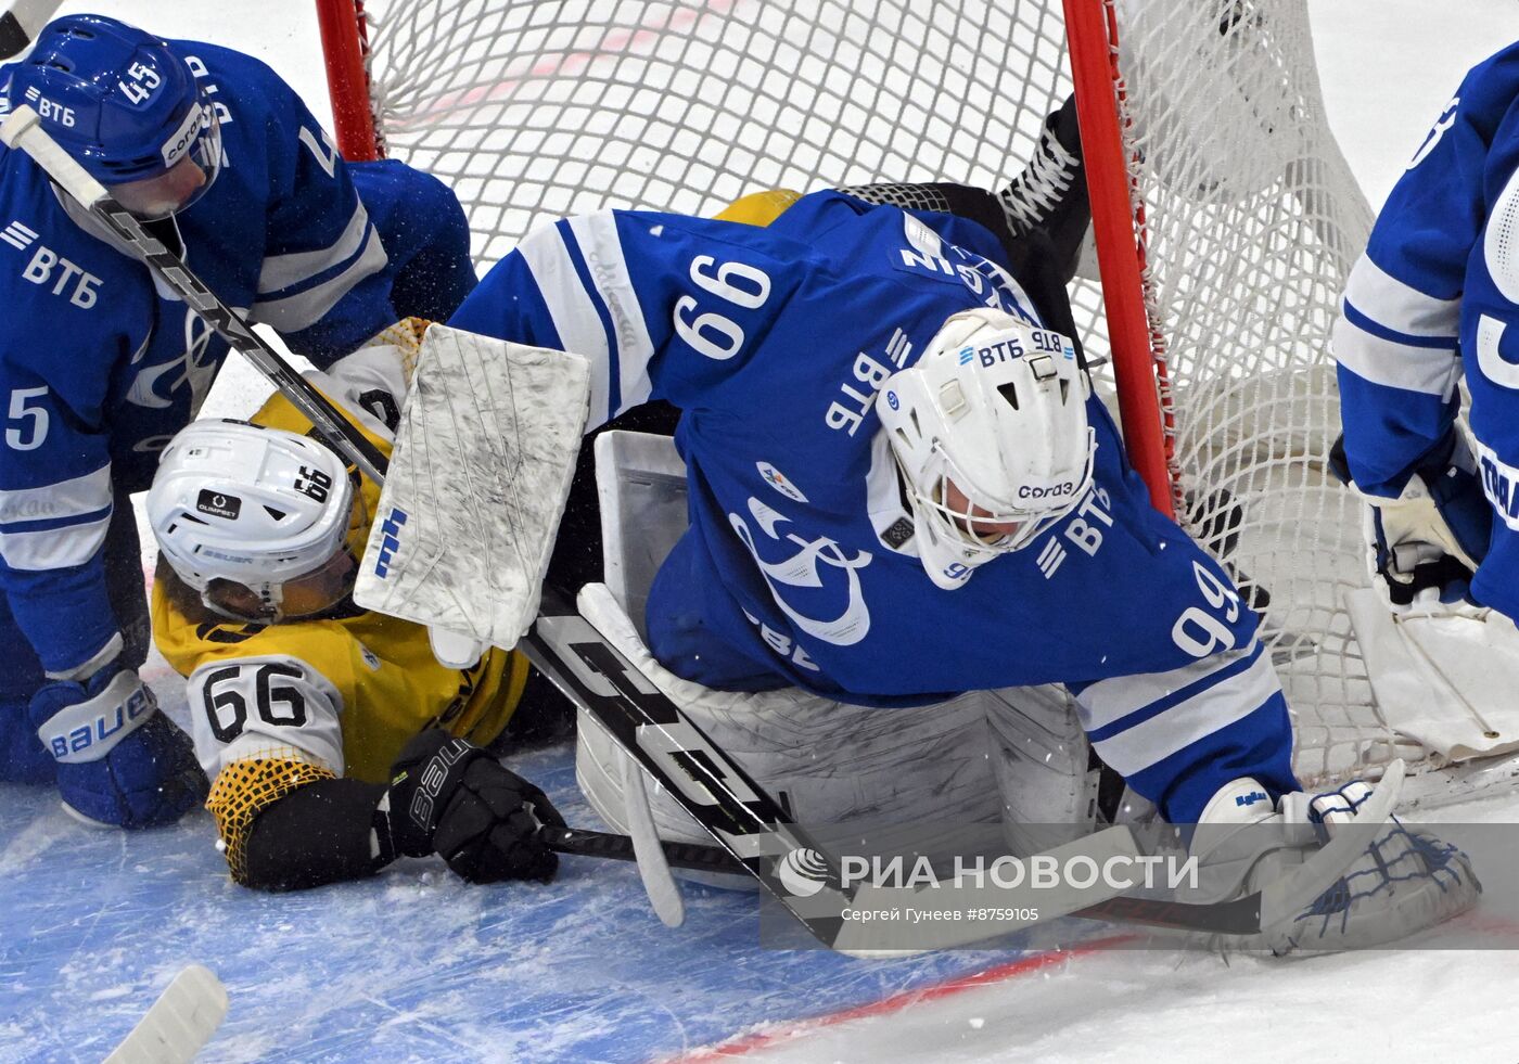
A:
{"type": "MultiPolygon", "coordinates": [[[[50,23],[11,106],[199,276],[319,366],[474,284],[457,200],[398,162],[348,165],[261,62],[123,23],[50,23]]],[[[205,792],[138,680],[147,610],[128,493],[196,413],[226,345],[20,152],[0,150],[0,780],[56,783],[140,827],[205,792]]]]}

